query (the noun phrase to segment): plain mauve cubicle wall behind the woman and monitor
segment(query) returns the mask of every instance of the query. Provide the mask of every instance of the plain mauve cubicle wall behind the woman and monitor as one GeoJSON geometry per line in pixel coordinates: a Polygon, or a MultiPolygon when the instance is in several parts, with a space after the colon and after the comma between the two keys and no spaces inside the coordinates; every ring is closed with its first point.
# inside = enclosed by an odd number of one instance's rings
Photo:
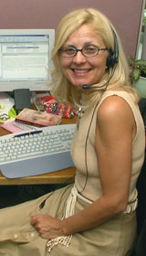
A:
{"type": "Polygon", "coordinates": [[[142,4],[143,0],[0,0],[0,29],[56,28],[69,11],[93,7],[117,28],[127,56],[135,56],[142,4]]]}

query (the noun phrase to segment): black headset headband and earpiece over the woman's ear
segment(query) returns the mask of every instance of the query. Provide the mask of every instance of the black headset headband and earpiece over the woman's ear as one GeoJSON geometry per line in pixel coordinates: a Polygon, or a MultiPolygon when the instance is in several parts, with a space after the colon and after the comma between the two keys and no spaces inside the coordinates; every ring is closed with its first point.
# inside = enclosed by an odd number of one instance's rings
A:
{"type": "Polygon", "coordinates": [[[114,51],[110,49],[109,51],[109,57],[107,59],[107,67],[108,69],[112,68],[116,63],[119,61],[119,44],[118,44],[118,39],[115,34],[115,31],[111,27],[112,34],[114,37],[114,51]]]}

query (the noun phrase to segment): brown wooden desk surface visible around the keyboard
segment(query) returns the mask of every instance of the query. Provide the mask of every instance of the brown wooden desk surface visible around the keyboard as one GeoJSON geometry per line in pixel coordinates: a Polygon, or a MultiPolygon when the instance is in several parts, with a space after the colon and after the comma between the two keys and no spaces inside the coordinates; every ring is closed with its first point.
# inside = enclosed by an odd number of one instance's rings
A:
{"type": "MultiPolygon", "coordinates": [[[[63,119],[61,124],[76,123],[77,117],[73,119],[63,119]]],[[[8,134],[5,129],[0,127],[0,136],[8,134]]],[[[66,170],[58,171],[42,176],[30,176],[23,178],[7,179],[0,174],[0,186],[4,185],[38,185],[38,184],[68,184],[74,181],[76,169],[68,168],[66,170]]]]}

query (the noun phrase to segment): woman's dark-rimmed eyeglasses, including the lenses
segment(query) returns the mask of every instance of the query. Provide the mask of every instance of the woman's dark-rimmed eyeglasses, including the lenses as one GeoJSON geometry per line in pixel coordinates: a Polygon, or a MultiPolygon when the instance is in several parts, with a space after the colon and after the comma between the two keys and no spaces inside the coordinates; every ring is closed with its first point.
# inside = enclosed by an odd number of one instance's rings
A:
{"type": "Polygon", "coordinates": [[[97,48],[93,46],[84,48],[63,47],[59,48],[58,52],[63,57],[73,58],[77,55],[78,51],[80,51],[84,57],[90,58],[97,56],[99,54],[99,50],[108,50],[108,48],[97,48]]]}

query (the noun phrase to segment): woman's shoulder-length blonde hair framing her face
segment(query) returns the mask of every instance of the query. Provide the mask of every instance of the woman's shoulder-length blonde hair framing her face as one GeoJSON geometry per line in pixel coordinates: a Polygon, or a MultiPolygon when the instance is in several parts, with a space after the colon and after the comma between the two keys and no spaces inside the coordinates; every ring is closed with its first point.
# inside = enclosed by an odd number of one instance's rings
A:
{"type": "Polygon", "coordinates": [[[115,28],[111,25],[109,19],[99,11],[92,8],[75,10],[69,13],[67,16],[64,16],[64,18],[58,24],[55,46],[52,52],[54,68],[51,72],[51,94],[59,101],[66,101],[70,104],[78,106],[80,105],[80,100],[82,100],[82,103],[89,106],[89,104],[93,103],[94,101],[99,101],[101,94],[105,90],[104,87],[100,89],[88,90],[86,92],[78,90],[78,88],[73,86],[66,79],[61,70],[58,49],[65,44],[68,37],[74,31],[84,24],[88,24],[90,27],[92,27],[95,32],[102,37],[107,48],[112,49],[112,51],[114,51],[115,46],[112,31],[114,30],[119,44],[118,63],[115,67],[106,70],[98,85],[109,81],[108,88],[123,87],[125,91],[129,91],[132,95],[134,95],[135,101],[138,101],[138,95],[130,85],[129,65],[121,46],[120,37],[115,31],[115,28]]]}

